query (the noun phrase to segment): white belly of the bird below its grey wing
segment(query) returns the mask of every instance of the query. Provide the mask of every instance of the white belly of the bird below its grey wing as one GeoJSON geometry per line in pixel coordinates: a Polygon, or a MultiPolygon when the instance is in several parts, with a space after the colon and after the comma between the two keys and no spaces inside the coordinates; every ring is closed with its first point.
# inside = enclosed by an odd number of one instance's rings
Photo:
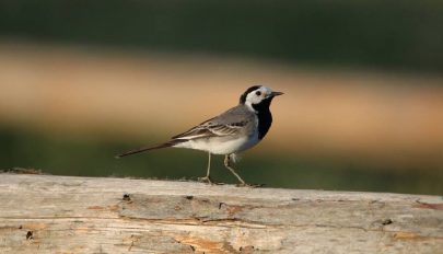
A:
{"type": "Polygon", "coordinates": [[[186,142],[178,143],[176,148],[189,148],[201,151],[208,151],[213,154],[231,154],[244,151],[258,143],[258,135],[254,135],[249,138],[236,138],[228,139],[224,137],[209,138],[209,139],[196,139],[188,140],[186,142]]]}

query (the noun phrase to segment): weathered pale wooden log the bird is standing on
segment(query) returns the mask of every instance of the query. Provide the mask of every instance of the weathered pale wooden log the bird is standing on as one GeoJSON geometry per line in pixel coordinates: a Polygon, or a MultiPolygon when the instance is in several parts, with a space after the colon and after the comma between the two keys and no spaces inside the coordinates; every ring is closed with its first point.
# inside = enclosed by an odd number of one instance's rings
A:
{"type": "Polygon", "coordinates": [[[443,253],[439,196],[0,174],[0,253],[443,253]]]}

